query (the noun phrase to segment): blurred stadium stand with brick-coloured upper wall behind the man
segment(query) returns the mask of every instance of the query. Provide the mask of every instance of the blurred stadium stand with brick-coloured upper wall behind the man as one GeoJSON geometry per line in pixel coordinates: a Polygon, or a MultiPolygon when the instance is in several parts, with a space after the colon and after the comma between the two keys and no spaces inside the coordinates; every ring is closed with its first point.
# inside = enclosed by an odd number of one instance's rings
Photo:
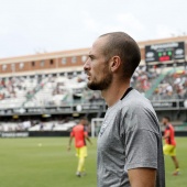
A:
{"type": "MultiPolygon", "coordinates": [[[[187,45],[187,36],[139,43],[142,61],[131,86],[151,100],[158,120],[169,116],[176,129],[187,131],[186,58],[145,59],[145,45],[155,47],[158,43],[161,47],[160,43],[177,44],[178,40],[187,45]]],[[[90,121],[102,118],[106,102],[99,91],[87,88],[82,72],[88,52],[82,48],[0,59],[0,134],[69,131],[79,117],[90,121]]]]}

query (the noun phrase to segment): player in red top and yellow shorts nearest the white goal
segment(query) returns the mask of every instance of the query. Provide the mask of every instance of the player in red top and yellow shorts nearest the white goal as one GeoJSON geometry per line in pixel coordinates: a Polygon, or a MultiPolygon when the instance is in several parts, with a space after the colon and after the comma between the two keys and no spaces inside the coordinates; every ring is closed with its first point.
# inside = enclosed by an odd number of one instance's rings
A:
{"type": "Polygon", "coordinates": [[[77,125],[75,125],[70,132],[68,151],[70,150],[72,141],[75,138],[76,156],[78,156],[78,167],[76,175],[78,177],[86,174],[85,173],[85,158],[87,157],[86,140],[88,140],[90,144],[92,144],[88,136],[88,131],[86,129],[87,124],[88,124],[87,119],[81,119],[80,122],[77,125]]]}

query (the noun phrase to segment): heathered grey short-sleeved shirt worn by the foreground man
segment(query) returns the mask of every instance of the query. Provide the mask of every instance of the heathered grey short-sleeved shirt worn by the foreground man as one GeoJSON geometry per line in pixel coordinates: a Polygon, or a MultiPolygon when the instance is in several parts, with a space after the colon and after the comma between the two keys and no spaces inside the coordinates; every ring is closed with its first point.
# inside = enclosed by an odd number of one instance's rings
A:
{"type": "Polygon", "coordinates": [[[133,89],[107,110],[98,136],[98,187],[130,187],[128,170],[139,167],[156,168],[156,187],[165,186],[158,120],[151,102],[133,89]]]}

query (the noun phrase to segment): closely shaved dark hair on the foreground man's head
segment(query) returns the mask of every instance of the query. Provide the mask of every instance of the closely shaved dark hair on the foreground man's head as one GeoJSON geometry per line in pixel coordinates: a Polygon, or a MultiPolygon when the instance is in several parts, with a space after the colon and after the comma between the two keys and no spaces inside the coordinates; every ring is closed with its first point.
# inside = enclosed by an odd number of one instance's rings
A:
{"type": "Polygon", "coordinates": [[[107,57],[107,61],[114,55],[119,56],[123,63],[123,77],[131,78],[141,61],[138,43],[124,32],[107,33],[99,37],[106,36],[108,41],[103,48],[103,55],[107,57]]]}

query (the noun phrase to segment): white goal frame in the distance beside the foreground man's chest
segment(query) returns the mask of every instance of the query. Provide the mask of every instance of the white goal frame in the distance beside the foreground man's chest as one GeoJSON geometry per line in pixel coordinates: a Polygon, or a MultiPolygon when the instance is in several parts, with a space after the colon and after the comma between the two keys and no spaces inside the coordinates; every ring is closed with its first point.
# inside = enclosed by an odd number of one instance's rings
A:
{"type": "Polygon", "coordinates": [[[102,122],[103,122],[103,118],[91,119],[91,138],[98,136],[102,122]]]}

